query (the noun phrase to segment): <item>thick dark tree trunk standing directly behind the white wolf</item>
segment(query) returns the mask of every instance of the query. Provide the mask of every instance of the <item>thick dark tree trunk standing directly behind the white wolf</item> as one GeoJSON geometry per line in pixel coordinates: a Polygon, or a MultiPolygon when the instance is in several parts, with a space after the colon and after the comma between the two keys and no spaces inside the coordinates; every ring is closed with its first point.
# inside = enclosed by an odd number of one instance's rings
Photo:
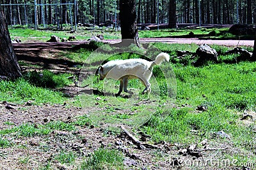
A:
{"type": "Polygon", "coordinates": [[[135,0],[120,0],[120,26],[122,42],[124,39],[133,39],[134,43],[139,46],[135,7],[135,0]]]}

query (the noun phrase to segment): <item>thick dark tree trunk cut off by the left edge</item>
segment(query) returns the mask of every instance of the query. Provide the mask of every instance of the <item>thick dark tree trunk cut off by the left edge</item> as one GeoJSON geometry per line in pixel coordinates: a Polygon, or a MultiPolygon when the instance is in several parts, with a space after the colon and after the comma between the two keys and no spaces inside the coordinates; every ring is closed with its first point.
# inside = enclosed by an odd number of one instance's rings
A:
{"type": "Polygon", "coordinates": [[[3,7],[0,6],[0,78],[15,79],[21,76],[17,57],[14,53],[3,7]]]}

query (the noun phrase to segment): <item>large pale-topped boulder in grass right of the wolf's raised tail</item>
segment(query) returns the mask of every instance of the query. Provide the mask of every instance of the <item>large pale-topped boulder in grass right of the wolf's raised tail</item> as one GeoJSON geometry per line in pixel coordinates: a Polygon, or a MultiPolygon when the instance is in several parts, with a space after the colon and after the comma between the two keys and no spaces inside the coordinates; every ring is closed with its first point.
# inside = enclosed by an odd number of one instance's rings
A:
{"type": "Polygon", "coordinates": [[[196,50],[196,55],[199,56],[200,61],[203,60],[214,60],[218,61],[218,53],[216,50],[211,48],[209,45],[200,45],[196,50]]]}

